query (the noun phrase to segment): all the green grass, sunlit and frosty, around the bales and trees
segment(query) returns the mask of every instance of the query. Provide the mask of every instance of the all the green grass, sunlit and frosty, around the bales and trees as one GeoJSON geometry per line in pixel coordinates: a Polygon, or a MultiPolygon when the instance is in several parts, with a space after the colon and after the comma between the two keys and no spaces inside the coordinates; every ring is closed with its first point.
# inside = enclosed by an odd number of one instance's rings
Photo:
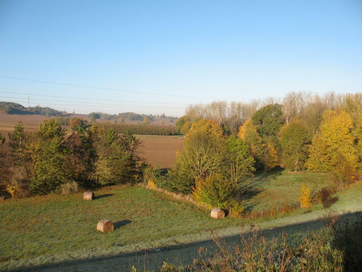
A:
{"type": "MultiPolygon", "coordinates": [[[[280,187],[278,199],[286,201],[298,195],[302,182],[308,184],[319,179],[316,189],[329,184],[328,176],[323,174],[295,176],[285,169],[271,171],[269,175],[257,174],[254,188],[259,193],[250,196],[247,204],[259,202],[266,207],[269,202],[273,204],[268,192],[276,187],[280,187]]],[[[35,266],[61,270],[67,265],[72,271],[85,265],[96,271],[99,269],[94,265],[102,265],[103,269],[106,265],[108,269],[129,270],[130,260],[136,262],[145,252],[150,254],[150,264],[159,266],[164,259],[175,261],[179,256],[193,257],[197,247],[211,246],[211,230],[236,242],[238,234],[245,231],[249,223],[257,223],[262,229],[294,231],[297,229],[294,224],[312,229],[320,226],[325,213],[317,204],[306,214],[305,209],[301,209],[255,221],[232,217],[215,220],[210,218],[210,209],[141,186],[113,186],[95,193],[98,198],[93,201],[83,201],[79,193],[0,202],[0,239],[3,242],[0,269],[35,266]],[[108,234],[96,231],[101,219],[114,222],[115,230],[108,234]],[[156,248],[164,252],[159,254],[154,251],[156,248]],[[60,264],[62,267],[57,266],[60,264]]],[[[343,213],[360,211],[361,194],[362,184],[355,184],[338,194],[339,199],[331,209],[343,213]]],[[[258,205],[249,207],[260,208],[258,205]]],[[[271,234],[277,233],[277,230],[271,231],[271,234]]]]}

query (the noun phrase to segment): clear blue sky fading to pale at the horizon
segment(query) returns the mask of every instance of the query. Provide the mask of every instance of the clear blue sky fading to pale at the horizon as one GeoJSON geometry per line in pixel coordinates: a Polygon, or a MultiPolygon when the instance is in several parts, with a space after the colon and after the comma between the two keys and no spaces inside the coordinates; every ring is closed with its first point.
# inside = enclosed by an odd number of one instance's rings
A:
{"type": "Polygon", "coordinates": [[[0,96],[16,97],[0,101],[77,113],[181,116],[212,100],[361,92],[362,1],[1,0],[0,76],[198,97],[0,77],[0,96]]]}

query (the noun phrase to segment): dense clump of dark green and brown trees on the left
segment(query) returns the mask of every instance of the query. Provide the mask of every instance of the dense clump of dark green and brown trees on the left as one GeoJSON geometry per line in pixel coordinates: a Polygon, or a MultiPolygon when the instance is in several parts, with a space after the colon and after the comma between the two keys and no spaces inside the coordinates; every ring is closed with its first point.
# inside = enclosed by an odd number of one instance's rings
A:
{"type": "Polygon", "coordinates": [[[0,141],[0,194],[23,197],[135,180],[140,142],[132,133],[93,124],[66,134],[55,119],[44,120],[39,131],[17,124],[8,145],[0,141]]]}

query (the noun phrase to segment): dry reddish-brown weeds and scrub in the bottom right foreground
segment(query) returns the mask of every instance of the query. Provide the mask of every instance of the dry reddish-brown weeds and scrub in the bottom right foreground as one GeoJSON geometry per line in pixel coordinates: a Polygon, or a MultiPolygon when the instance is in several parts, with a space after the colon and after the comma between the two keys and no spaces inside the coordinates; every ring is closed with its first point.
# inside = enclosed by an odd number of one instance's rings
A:
{"type": "Polygon", "coordinates": [[[362,218],[329,224],[319,232],[282,234],[267,239],[253,226],[241,246],[214,236],[216,250],[198,250],[190,271],[359,271],[362,266],[362,218]]]}

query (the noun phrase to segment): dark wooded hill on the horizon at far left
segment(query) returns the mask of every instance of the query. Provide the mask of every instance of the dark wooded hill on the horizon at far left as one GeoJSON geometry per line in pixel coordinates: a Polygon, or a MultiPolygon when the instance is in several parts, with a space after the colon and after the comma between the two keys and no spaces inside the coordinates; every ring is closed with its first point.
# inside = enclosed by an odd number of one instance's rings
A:
{"type": "Polygon", "coordinates": [[[5,114],[43,114],[52,116],[62,114],[61,111],[49,107],[35,106],[25,108],[21,104],[13,102],[0,102],[0,112],[5,114]]]}

